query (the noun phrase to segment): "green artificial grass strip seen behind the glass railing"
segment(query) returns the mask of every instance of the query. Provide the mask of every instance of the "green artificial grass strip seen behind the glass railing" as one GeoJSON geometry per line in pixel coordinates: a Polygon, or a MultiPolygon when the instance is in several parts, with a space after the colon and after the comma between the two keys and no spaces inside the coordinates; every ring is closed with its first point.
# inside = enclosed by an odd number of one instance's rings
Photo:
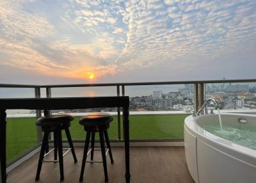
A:
{"type": "MultiPolygon", "coordinates": [[[[184,138],[184,118],[188,115],[130,115],[130,139],[180,139],[184,138]]],[[[72,140],[84,140],[85,132],[79,125],[79,116],[71,123],[72,140]]],[[[35,118],[8,118],[6,134],[7,163],[24,154],[37,144],[35,118]]],[[[121,122],[121,132],[122,132],[121,122]]],[[[109,139],[118,139],[117,116],[110,123],[109,139]]],[[[122,134],[123,136],[123,134],[122,134]]],[[[121,136],[121,137],[122,137],[121,136]]],[[[99,135],[96,134],[96,139],[99,135]]],[[[67,139],[63,132],[63,139],[67,139]]]]}

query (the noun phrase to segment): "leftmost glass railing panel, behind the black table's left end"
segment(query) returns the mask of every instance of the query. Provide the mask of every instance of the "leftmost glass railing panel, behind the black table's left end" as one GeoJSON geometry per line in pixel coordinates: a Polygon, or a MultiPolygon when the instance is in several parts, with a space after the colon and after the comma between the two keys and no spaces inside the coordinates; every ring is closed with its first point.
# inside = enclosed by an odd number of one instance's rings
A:
{"type": "MultiPolygon", "coordinates": [[[[0,98],[35,97],[34,88],[0,88],[0,98]]],[[[28,152],[37,143],[35,110],[7,110],[6,119],[6,161],[28,152]]]]}

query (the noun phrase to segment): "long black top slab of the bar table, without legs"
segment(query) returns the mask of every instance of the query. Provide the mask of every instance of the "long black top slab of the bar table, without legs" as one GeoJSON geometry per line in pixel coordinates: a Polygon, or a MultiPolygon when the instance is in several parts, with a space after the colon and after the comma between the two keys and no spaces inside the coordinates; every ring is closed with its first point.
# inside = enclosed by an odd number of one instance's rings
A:
{"type": "Polygon", "coordinates": [[[129,107],[128,96],[0,99],[0,109],[85,109],[129,107]]]}

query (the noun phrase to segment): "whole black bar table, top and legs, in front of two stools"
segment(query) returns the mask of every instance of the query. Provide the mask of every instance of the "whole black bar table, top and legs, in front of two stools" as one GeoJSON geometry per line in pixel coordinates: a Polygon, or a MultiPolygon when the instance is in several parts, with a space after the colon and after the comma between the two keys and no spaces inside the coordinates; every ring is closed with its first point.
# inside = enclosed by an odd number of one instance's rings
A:
{"type": "MultiPolygon", "coordinates": [[[[69,97],[0,99],[0,183],[6,183],[6,109],[86,109],[97,107],[122,107],[125,143],[125,180],[130,182],[129,155],[129,97],[69,97]]],[[[79,177],[77,177],[79,179],[79,177]]]]}

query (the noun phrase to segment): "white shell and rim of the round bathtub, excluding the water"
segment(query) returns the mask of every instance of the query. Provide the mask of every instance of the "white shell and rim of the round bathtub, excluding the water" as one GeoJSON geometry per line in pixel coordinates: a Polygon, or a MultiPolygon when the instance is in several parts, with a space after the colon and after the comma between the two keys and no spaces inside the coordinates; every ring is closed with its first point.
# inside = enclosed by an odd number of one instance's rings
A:
{"type": "MultiPolygon", "coordinates": [[[[246,120],[246,123],[239,125],[256,127],[255,115],[221,113],[223,127],[236,125],[239,118],[246,120]]],[[[220,138],[202,128],[211,123],[219,123],[218,115],[191,115],[185,119],[184,147],[191,177],[196,183],[255,183],[256,150],[220,138]]]]}

